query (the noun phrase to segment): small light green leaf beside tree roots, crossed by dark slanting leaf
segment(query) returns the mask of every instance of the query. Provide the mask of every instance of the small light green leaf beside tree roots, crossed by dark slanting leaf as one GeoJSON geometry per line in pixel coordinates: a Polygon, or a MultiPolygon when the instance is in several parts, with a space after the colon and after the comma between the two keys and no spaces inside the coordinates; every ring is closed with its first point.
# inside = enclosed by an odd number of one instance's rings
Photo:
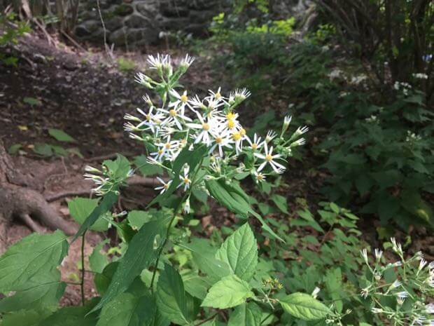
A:
{"type": "MultiPolygon", "coordinates": [[[[87,217],[98,207],[98,198],[74,198],[68,202],[69,214],[80,225],[83,225],[87,217]]],[[[89,228],[92,231],[107,231],[109,222],[105,219],[97,219],[89,228]]]]}

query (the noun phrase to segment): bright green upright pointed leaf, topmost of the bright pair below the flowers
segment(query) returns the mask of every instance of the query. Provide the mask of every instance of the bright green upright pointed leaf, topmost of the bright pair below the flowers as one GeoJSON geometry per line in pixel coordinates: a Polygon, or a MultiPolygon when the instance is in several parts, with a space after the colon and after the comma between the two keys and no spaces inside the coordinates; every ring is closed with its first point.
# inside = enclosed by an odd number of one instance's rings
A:
{"type": "Polygon", "coordinates": [[[242,280],[251,280],[258,264],[258,245],[248,223],[225,240],[216,258],[228,264],[242,280]]]}

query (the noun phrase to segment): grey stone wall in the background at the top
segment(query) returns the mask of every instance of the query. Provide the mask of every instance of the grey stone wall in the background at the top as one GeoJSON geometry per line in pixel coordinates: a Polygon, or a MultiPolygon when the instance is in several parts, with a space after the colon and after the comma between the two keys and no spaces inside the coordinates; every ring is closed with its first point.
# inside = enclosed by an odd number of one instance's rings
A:
{"type": "MultiPolygon", "coordinates": [[[[228,0],[100,0],[107,43],[141,46],[158,43],[161,32],[201,36],[228,0]]],[[[104,29],[96,0],[82,0],[75,33],[82,41],[103,43],[104,29]]]]}

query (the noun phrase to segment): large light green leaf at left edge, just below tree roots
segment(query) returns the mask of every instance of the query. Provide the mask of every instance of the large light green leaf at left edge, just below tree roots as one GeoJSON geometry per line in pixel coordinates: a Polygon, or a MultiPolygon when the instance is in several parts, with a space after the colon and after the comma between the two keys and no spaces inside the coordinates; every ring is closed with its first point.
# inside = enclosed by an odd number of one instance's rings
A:
{"type": "Polygon", "coordinates": [[[66,255],[66,238],[61,231],[32,233],[10,246],[0,258],[0,292],[26,290],[50,276],[66,255]]]}

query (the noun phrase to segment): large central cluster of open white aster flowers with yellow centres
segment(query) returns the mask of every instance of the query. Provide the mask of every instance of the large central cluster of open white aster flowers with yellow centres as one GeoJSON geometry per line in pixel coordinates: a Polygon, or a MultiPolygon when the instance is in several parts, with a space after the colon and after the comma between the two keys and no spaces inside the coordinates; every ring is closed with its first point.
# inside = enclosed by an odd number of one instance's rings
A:
{"type": "MultiPolygon", "coordinates": [[[[268,175],[281,174],[284,163],[294,147],[304,144],[301,136],[308,128],[298,128],[286,137],[291,118],[283,121],[281,134],[270,130],[265,137],[248,135],[237,113],[239,104],[251,93],[246,88],[223,95],[221,88],[209,90],[204,98],[191,95],[179,88],[179,78],[186,72],[193,57],[186,55],[174,67],[168,55],[150,56],[148,63],[158,75],[158,81],[139,73],[136,81],[155,90],[161,100],[153,102],[146,95],[146,109],[137,114],[125,114],[125,130],[134,140],[143,142],[148,149],[148,163],[166,170],[169,178],[179,178],[179,188],[187,191],[192,186],[190,167],[183,167],[180,175],[173,175],[173,163],[184,148],[206,146],[209,159],[205,160],[203,179],[232,179],[251,175],[255,182],[263,182],[268,175]]],[[[165,192],[171,180],[159,179],[156,189],[165,192]]]]}

